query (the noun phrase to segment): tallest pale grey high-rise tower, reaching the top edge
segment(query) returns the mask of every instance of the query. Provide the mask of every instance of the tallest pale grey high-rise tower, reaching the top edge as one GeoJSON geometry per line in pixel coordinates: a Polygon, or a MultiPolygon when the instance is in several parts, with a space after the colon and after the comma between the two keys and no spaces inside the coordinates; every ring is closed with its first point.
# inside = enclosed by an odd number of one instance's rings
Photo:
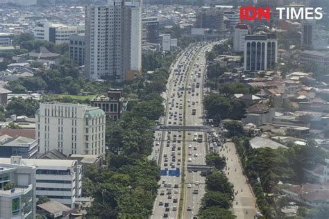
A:
{"type": "Polygon", "coordinates": [[[142,1],[85,10],[85,78],[132,80],[142,71],[142,1]]]}

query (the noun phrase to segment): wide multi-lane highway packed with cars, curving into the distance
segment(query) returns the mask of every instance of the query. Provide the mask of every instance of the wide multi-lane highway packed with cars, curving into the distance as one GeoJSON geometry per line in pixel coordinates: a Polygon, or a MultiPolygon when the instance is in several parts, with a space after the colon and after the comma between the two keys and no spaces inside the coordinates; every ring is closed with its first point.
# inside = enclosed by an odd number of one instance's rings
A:
{"type": "MultiPolygon", "coordinates": [[[[171,66],[167,92],[162,94],[165,98],[165,116],[160,120],[163,125],[203,125],[205,51],[210,50],[213,45],[203,42],[189,46],[180,53],[171,66]],[[195,109],[195,115],[192,115],[193,109],[195,109]]],[[[180,204],[183,206],[181,217],[196,216],[201,198],[205,193],[205,177],[201,177],[200,172],[188,173],[186,168],[187,164],[205,164],[205,154],[206,144],[203,132],[155,131],[154,148],[149,159],[158,161],[162,176],[150,218],[178,218],[180,204]],[[202,142],[198,142],[199,138],[202,142]],[[183,166],[183,155],[185,155],[185,166],[183,166]],[[181,188],[183,170],[185,170],[183,184],[185,193],[184,202],[180,203],[180,193],[183,191],[181,188]],[[170,175],[177,173],[180,175],[170,175]]]]}

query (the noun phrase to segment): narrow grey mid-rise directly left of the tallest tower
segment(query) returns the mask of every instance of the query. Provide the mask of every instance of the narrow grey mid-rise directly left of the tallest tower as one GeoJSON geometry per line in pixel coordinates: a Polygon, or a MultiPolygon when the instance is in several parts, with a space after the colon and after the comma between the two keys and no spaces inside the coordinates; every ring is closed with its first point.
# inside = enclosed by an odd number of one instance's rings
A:
{"type": "Polygon", "coordinates": [[[78,66],[85,64],[85,34],[69,37],[69,58],[78,66]]]}

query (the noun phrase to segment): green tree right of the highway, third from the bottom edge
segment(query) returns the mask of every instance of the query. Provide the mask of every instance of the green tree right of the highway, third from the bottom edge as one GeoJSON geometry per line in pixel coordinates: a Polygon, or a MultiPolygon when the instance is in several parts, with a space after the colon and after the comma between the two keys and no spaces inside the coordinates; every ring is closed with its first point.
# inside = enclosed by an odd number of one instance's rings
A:
{"type": "Polygon", "coordinates": [[[206,177],[205,184],[208,191],[219,191],[233,196],[233,184],[228,182],[226,175],[218,170],[213,171],[206,177]]]}

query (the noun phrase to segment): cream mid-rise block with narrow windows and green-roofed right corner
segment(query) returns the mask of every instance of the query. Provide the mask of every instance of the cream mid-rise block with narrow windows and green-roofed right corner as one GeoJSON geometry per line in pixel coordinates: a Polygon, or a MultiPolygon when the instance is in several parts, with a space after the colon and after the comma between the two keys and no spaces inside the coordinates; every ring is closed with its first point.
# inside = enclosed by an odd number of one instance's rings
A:
{"type": "Polygon", "coordinates": [[[106,114],[99,107],[40,103],[35,121],[40,154],[57,149],[65,155],[105,155],[106,114]]]}

